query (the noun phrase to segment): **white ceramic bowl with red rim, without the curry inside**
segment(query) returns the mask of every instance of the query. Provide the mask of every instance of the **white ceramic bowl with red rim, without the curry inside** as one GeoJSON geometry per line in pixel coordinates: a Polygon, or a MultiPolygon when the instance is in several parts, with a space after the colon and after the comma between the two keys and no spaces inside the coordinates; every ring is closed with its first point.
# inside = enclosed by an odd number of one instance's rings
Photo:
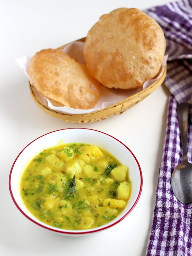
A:
{"type": "Polygon", "coordinates": [[[123,220],[137,204],[141,190],[142,190],[142,173],[140,165],[131,152],[131,150],[125,146],[122,142],[116,138],[92,129],[86,128],[69,128],[47,133],[36,140],[29,143],[17,156],[14,161],[11,172],[9,175],[9,190],[13,199],[13,202],[20,210],[20,212],[26,216],[33,223],[41,226],[47,230],[55,232],[57,234],[67,236],[83,236],[105,230],[106,228],[116,225],[123,220]],[[27,167],[27,164],[43,149],[57,145],[61,140],[63,143],[87,143],[95,146],[99,146],[111,154],[113,154],[122,164],[127,165],[129,168],[129,178],[132,182],[132,193],[128,201],[127,206],[123,212],[117,216],[114,220],[108,224],[100,226],[98,228],[92,228],[88,230],[65,230],[50,225],[46,225],[36,219],[24,206],[20,197],[20,178],[23,171],[27,167]]]}

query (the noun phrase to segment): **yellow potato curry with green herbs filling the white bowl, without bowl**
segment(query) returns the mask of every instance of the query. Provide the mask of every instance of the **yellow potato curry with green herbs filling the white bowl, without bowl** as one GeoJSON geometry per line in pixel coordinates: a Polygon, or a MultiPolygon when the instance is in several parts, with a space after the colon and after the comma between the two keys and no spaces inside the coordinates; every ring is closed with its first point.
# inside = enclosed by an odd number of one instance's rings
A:
{"type": "Polygon", "coordinates": [[[130,193],[128,167],[105,150],[80,143],[40,152],[20,181],[27,209],[45,224],[68,230],[115,219],[130,193]]]}

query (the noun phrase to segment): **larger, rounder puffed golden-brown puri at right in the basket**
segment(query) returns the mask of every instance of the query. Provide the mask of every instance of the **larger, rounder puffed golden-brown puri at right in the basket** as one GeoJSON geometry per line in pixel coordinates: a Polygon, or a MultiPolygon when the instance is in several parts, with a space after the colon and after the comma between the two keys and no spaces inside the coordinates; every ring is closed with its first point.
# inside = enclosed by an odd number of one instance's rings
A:
{"type": "Polygon", "coordinates": [[[119,8],[88,32],[84,57],[89,73],[108,88],[133,89],[157,75],[165,52],[158,23],[138,9],[119,8]]]}

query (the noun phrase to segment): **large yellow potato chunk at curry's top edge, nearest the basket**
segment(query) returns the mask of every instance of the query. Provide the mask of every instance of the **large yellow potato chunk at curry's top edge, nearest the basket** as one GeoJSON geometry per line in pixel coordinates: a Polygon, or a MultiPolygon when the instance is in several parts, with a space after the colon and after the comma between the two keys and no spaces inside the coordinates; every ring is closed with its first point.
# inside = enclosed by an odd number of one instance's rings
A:
{"type": "Polygon", "coordinates": [[[100,151],[100,149],[97,146],[84,146],[82,149],[83,153],[78,155],[80,159],[82,159],[84,162],[90,162],[91,160],[95,160],[103,156],[103,153],[100,151]]]}

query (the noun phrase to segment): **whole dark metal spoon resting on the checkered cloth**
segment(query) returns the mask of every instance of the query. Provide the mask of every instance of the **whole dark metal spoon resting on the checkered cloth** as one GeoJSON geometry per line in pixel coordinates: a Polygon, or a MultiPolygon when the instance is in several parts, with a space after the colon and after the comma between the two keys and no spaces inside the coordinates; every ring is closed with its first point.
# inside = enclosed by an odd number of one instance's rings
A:
{"type": "Polygon", "coordinates": [[[192,203],[192,164],[187,160],[188,110],[188,103],[180,103],[177,106],[182,162],[174,169],[171,177],[173,194],[183,204],[192,203]]]}

